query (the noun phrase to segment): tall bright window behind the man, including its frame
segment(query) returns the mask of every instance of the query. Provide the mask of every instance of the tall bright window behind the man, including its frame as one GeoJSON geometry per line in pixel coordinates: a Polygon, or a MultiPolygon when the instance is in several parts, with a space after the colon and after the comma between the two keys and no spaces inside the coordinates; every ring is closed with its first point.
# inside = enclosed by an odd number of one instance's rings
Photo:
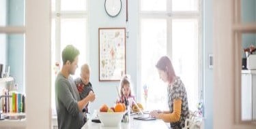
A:
{"type": "Polygon", "coordinates": [[[80,75],[80,67],[87,62],[87,0],[52,0],[52,109],[55,111],[55,76],[56,63],[61,68],[63,62],[61,52],[68,44],[74,45],[80,51],[79,68],[76,69],[74,78],[80,75]]]}

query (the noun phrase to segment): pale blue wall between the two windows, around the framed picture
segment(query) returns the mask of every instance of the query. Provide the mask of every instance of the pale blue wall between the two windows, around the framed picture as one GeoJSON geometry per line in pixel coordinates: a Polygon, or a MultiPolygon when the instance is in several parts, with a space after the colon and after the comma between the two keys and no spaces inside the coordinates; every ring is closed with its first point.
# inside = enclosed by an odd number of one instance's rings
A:
{"type": "MultiPolygon", "coordinates": [[[[137,82],[137,43],[138,43],[138,24],[139,7],[138,1],[129,1],[129,38],[126,39],[126,73],[131,75],[133,82],[137,82]]],[[[104,10],[104,1],[89,1],[89,62],[91,66],[91,82],[96,92],[96,101],[91,103],[90,109],[99,109],[105,103],[112,106],[117,98],[115,82],[98,81],[98,28],[100,27],[126,27],[126,4],[122,1],[122,10],[115,17],[109,17],[104,10]]],[[[136,90],[134,84],[134,90],[136,90]]],[[[136,91],[134,91],[136,92],[136,91]]]]}

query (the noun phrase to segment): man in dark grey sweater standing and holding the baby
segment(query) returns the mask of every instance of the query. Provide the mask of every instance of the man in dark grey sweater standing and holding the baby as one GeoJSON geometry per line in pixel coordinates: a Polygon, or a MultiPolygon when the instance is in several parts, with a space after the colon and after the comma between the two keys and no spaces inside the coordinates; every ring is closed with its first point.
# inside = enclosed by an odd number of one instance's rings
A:
{"type": "Polygon", "coordinates": [[[74,75],[79,61],[79,50],[67,45],[62,51],[63,67],[55,80],[55,102],[58,128],[80,129],[85,124],[83,107],[94,101],[94,92],[80,98],[79,92],[70,75],[74,75]]]}

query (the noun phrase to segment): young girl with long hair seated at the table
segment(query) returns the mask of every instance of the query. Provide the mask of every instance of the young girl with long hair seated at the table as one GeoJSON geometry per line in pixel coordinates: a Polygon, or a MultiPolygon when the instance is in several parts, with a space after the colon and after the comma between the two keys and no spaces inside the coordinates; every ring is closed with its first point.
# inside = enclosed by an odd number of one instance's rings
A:
{"type": "Polygon", "coordinates": [[[126,105],[130,105],[131,108],[134,104],[133,102],[135,101],[135,98],[132,95],[132,86],[129,75],[124,75],[124,77],[122,77],[119,86],[120,98],[119,100],[117,100],[117,103],[124,103],[126,105]]]}

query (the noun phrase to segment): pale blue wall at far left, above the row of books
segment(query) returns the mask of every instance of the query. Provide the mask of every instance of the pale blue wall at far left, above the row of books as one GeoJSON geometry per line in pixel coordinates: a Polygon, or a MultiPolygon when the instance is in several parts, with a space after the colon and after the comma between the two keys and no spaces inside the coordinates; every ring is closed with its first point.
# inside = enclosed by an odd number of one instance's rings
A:
{"type": "MultiPolygon", "coordinates": [[[[8,0],[8,26],[24,24],[24,0],[8,0]]],[[[18,92],[24,92],[24,36],[8,35],[8,65],[10,76],[18,84],[18,92]]]]}

